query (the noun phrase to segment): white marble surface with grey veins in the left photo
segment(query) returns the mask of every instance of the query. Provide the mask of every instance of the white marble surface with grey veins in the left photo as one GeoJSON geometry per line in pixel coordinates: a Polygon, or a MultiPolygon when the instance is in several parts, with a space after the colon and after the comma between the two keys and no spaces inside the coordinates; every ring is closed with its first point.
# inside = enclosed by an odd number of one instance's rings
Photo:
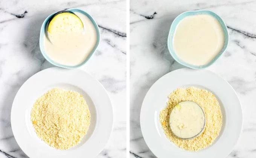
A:
{"type": "Polygon", "coordinates": [[[40,53],[39,31],[49,14],[67,8],[84,9],[101,30],[98,50],[81,67],[104,85],[114,108],[113,132],[97,157],[126,157],[126,1],[0,0],[0,158],[27,157],[12,134],[12,101],[30,76],[53,66],[40,53]]]}

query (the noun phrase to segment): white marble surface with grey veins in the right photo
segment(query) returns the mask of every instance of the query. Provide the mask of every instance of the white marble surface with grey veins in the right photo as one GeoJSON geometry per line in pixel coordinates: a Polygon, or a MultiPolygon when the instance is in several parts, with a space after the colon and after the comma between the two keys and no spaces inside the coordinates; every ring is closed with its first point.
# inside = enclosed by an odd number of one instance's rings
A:
{"type": "MultiPolygon", "coordinates": [[[[256,1],[131,0],[130,3],[130,157],[154,158],[140,130],[142,101],[151,85],[182,66],[166,47],[172,20],[184,11],[209,9],[229,27],[227,51],[208,69],[226,79],[241,100],[244,127],[227,158],[256,157],[256,1]],[[154,14],[155,13],[155,14],[154,14]]],[[[170,155],[171,156],[171,155],[170,155]]]]}

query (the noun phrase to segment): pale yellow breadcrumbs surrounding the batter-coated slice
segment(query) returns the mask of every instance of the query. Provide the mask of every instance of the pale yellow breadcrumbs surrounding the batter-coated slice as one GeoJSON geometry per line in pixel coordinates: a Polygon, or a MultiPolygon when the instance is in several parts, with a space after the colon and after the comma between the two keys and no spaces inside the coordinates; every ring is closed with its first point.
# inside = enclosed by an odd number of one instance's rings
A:
{"type": "Polygon", "coordinates": [[[160,122],[162,123],[165,135],[178,147],[197,151],[210,146],[218,137],[222,126],[222,114],[219,102],[209,91],[195,87],[177,88],[169,95],[166,109],[160,112],[160,122]],[[189,140],[176,137],[169,126],[169,117],[175,105],[181,101],[192,101],[200,105],[206,115],[206,126],[202,134],[189,140]]]}

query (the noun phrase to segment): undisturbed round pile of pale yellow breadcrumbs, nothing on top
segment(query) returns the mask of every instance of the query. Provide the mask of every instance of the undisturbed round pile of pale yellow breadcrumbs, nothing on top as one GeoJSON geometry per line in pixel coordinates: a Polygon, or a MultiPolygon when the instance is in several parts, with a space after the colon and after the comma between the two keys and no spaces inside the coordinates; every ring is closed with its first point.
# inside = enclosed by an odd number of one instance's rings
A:
{"type": "Polygon", "coordinates": [[[36,100],[30,120],[39,138],[56,149],[66,150],[87,133],[91,114],[81,94],[53,88],[36,100]]]}

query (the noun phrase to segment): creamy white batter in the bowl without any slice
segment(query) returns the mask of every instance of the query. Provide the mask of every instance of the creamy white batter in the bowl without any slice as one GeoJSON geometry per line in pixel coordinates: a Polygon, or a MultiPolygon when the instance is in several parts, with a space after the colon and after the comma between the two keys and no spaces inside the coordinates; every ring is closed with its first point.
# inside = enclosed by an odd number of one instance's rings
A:
{"type": "Polygon", "coordinates": [[[211,15],[191,15],[178,23],[174,51],[178,58],[192,65],[206,65],[224,46],[224,32],[211,15]]]}

